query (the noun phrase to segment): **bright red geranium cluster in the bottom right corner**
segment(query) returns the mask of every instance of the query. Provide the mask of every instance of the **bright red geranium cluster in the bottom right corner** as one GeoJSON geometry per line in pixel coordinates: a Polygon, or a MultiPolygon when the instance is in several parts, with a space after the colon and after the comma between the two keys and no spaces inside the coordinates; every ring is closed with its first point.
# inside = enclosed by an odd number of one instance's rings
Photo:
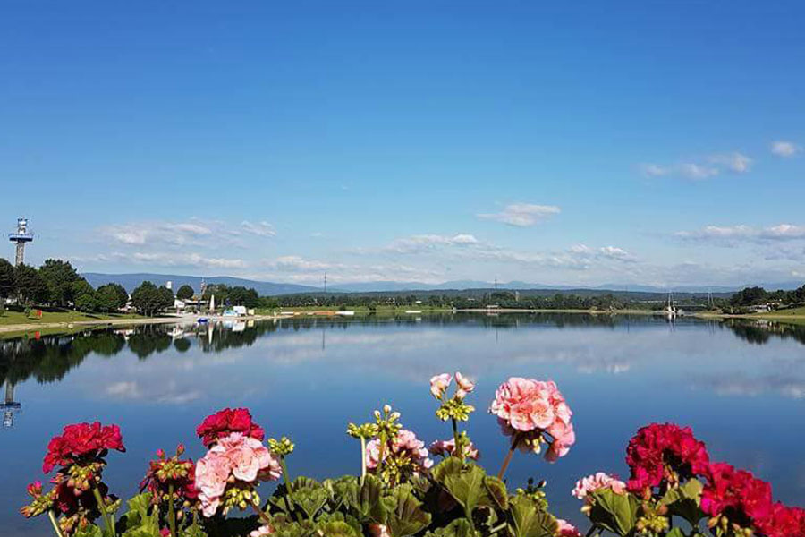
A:
{"type": "Polygon", "coordinates": [[[805,510],[775,503],[771,485],[725,463],[709,466],[701,510],[710,516],[710,527],[723,531],[758,529],[767,537],[805,535],[805,510]]]}

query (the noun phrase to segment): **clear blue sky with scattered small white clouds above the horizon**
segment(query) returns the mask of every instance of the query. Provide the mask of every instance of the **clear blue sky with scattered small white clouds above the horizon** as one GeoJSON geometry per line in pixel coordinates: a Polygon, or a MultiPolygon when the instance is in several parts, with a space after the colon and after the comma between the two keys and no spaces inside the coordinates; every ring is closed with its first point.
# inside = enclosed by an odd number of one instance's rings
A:
{"type": "MultiPolygon", "coordinates": [[[[3,2],[27,260],[805,281],[799,2],[3,2]]],[[[4,251],[13,256],[12,244],[4,251]]]]}

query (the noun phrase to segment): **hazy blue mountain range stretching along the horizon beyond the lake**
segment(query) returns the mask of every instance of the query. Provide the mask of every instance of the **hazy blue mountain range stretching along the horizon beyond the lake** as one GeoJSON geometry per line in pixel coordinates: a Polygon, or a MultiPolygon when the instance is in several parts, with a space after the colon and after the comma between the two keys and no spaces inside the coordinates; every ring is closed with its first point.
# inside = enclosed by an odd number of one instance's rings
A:
{"type": "MultiPolygon", "coordinates": [[[[187,284],[195,291],[201,288],[201,277],[199,276],[182,276],[177,274],[153,274],[153,273],[137,273],[137,274],[101,274],[97,272],[86,272],[81,276],[87,278],[87,281],[92,286],[102,286],[110,282],[122,285],[127,291],[131,291],[140,286],[142,282],[148,280],[158,286],[165,285],[165,282],[173,282],[174,291],[179,287],[187,284]]],[[[270,296],[275,294],[296,294],[296,293],[321,293],[322,288],[318,286],[301,286],[299,284],[278,284],[274,282],[263,282],[258,280],[245,279],[241,277],[230,276],[215,276],[205,277],[204,280],[208,284],[225,284],[227,286],[244,286],[253,287],[257,290],[258,294],[263,296],[270,296]]],[[[783,283],[757,283],[748,284],[748,286],[761,286],[767,290],[784,289],[791,290],[801,286],[802,282],[783,282],[783,283]]],[[[660,286],[636,286],[627,284],[604,284],[601,286],[552,286],[546,284],[530,284],[527,282],[513,281],[508,283],[498,283],[498,289],[521,289],[521,290],[556,290],[568,291],[573,289],[587,289],[590,291],[631,291],[641,293],[667,293],[673,290],[677,293],[733,293],[742,289],[745,286],[675,286],[673,289],[660,286]]],[[[491,282],[483,282],[478,280],[454,280],[441,284],[423,284],[420,282],[357,282],[353,284],[342,284],[330,286],[327,291],[331,293],[377,293],[377,292],[394,292],[401,291],[435,291],[435,290],[463,290],[463,289],[492,289],[494,284],[491,282]]]]}

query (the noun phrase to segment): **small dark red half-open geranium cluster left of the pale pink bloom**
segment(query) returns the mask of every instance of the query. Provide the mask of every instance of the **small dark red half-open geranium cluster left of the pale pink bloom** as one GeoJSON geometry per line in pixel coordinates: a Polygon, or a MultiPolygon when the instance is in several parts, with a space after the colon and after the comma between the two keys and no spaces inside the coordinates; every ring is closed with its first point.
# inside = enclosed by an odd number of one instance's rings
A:
{"type": "Polygon", "coordinates": [[[195,486],[196,465],[191,459],[180,459],[184,446],[176,447],[176,455],[165,457],[165,451],[157,450],[157,459],[148,465],[148,473],[140,483],[140,490],[151,493],[155,504],[174,501],[190,507],[199,497],[195,486]]]}

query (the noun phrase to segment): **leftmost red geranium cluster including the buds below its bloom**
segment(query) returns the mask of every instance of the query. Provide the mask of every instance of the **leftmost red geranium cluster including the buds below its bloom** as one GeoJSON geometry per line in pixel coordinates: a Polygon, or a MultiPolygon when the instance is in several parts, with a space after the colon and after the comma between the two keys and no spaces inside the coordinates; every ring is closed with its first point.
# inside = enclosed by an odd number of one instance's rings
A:
{"type": "Polygon", "coordinates": [[[117,425],[93,422],[64,427],[62,434],[50,439],[42,464],[44,473],[58,468],[51,480],[54,487],[45,493],[41,482],[31,483],[28,486],[31,502],[21,508],[22,515],[54,516],[55,512],[60,517],[54,524],[67,535],[87,527],[99,516],[106,518],[107,511],[117,502],[101,481],[106,466],[104,457],[110,449],[125,451],[117,425]]]}

